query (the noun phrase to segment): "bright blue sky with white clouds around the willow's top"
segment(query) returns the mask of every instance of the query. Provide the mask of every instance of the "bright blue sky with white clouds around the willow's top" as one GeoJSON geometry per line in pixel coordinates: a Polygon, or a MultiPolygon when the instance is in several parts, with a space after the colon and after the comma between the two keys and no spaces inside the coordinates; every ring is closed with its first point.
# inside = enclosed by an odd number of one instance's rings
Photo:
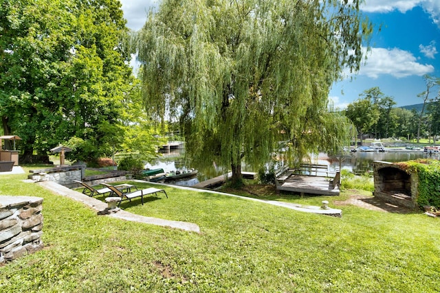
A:
{"type": "MultiPolygon", "coordinates": [[[[158,3],[120,1],[132,30],[144,25],[148,9],[158,3]]],[[[375,25],[370,51],[365,50],[366,62],[356,75],[333,84],[330,99],[345,108],[366,89],[379,86],[397,106],[422,103],[417,95],[426,90],[423,75],[440,78],[440,0],[366,0],[361,10],[375,25]]]]}

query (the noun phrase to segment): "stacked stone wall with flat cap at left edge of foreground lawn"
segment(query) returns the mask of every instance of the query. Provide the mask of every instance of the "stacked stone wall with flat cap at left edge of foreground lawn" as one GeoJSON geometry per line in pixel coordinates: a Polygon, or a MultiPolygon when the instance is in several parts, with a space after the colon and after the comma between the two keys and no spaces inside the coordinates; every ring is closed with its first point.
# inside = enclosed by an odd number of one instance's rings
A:
{"type": "Polygon", "coordinates": [[[43,198],[0,196],[0,263],[43,248],[43,198]]]}

